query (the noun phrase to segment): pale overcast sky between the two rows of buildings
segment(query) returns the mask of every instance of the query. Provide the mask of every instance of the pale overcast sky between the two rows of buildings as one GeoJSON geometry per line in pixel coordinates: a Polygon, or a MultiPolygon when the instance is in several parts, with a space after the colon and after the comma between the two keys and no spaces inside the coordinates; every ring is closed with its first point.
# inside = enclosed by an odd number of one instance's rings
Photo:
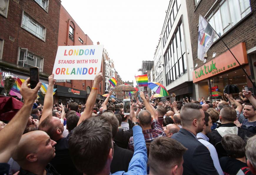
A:
{"type": "Polygon", "coordinates": [[[93,44],[107,49],[123,81],[135,81],[153,60],[169,0],[61,0],[93,44]]]}

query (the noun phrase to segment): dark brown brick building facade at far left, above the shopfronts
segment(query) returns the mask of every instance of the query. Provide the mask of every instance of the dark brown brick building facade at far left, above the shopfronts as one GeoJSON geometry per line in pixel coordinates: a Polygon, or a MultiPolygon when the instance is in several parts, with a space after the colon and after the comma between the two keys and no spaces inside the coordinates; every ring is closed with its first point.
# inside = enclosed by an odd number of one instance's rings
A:
{"type": "MultiPolygon", "coordinates": [[[[29,77],[39,67],[48,83],[57,52],[60,0],[4,0],[0,8],[0,72],[29,77]]],[[[0,93],[4,94],[1,87],[0,93]]]]}

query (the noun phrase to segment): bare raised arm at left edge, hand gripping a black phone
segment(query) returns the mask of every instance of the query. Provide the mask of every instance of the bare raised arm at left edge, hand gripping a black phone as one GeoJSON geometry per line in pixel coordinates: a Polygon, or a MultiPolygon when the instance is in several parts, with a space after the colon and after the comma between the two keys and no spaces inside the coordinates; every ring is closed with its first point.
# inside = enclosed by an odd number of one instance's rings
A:
{"type": "Polygon", "coordinates": [[[22,108],[16,113],[14,118],[0,131],[0,163],[7,163],[11,158],[12,153],[16,149],[21,136],[28,123],[34,100],[37,97],[37,92],[41,87],[39,82],[34,89],[30,89],[28,84],[30,78],[26,79],[21,85],[21,95],[24,98],[22,108]]]}

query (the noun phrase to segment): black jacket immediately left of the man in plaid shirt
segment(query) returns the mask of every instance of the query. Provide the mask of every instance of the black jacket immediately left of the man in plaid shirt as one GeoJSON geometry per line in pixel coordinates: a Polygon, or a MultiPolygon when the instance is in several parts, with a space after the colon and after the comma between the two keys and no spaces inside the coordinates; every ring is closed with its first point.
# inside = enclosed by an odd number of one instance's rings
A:
{"type": "Polygon", "coordinates": [[[132,128],[127,131],[124,131],[123,128],[118,128],[114,142],[117,146],[127,149],[130,137],[132,137],[132,128]]]}

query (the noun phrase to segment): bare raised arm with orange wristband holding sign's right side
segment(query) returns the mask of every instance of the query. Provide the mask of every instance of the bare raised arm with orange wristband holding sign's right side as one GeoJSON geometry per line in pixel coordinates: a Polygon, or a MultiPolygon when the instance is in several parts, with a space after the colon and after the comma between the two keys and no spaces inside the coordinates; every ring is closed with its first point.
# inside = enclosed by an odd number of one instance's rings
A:
{"type": "Polygon", "coordinates": [[[103,80],[103,75],[102,73],[98,73],[95,78],[94,78],[94,82],[93,82],[93,88],[92,88],[92,91],[87,99],[87,102],[86,102],[86,108],[84,110],[84,112],[82,113],[78,123],[77,123],[77,126],[82,123],[82,121],[90,118],[92,116],[92,111],[93,111],[93,106],[94,106],[94,103],[96,101],[96,97],[97,97],[97,89],[99,87],[99,83],[102,82],[103,80]],[[96,89],[94,89],[96,88],[96,89]]]}

